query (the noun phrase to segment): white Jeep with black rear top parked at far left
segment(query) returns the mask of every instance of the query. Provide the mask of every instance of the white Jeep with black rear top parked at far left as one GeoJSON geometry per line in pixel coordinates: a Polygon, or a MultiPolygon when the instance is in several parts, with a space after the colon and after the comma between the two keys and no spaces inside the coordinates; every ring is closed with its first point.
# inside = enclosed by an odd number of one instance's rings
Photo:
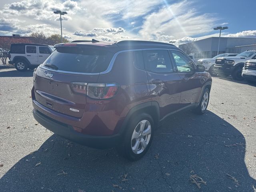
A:
{"type": "Polygon", "coordinates": [[[9,64],[14,64],[18,71],[34,69],[42,64],[52,52],[52,48],[44,44],[11,44],[9,64]]]}

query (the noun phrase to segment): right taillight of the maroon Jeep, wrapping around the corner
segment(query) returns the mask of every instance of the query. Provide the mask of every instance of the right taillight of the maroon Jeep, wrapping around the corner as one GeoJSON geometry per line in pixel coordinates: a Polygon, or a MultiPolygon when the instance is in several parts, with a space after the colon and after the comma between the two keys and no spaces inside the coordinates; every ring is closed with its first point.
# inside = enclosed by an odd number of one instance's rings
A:
{"type": "Polygon", "coordinates": [[[109,99],[118,92],[116,83],[81,83],[72,82],[72,90],[76,93],[86,94],[93,99],[109,99]]]}

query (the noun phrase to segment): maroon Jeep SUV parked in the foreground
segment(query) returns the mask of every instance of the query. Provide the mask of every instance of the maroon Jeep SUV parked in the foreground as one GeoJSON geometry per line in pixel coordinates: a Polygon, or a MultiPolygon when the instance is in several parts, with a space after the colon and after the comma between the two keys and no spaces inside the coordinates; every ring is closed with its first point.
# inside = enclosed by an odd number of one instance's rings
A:
{"type": "Polygon", "coordinates": [[[164,119],[208,106],[210,74],[172,44],[92,40],[54,48],[34,71],[33,114],[74,142],[138,160],[164,119]]]}

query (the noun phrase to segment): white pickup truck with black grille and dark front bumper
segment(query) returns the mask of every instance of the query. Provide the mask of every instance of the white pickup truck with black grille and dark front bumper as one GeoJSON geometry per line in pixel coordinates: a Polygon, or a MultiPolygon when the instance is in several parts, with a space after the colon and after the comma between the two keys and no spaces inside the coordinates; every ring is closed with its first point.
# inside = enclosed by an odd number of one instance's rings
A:
{"type": "Polygon", "coordinates": [[[219,57],[215,60],[214,71],[220,76],[231,75],[234,80],[242,80],[242,68],[250,59],[256,59],[256,51],[245,51],[235,57],[219,57]]]}

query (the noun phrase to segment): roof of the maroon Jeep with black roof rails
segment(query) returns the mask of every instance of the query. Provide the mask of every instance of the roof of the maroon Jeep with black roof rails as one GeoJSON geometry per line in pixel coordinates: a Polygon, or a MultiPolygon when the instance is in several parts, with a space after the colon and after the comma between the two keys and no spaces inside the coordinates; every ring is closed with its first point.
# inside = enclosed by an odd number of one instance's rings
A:
{"type": "Polygon", "coordinates": [[[164,43],[164,42],[154,42],[154,41],[142,41],[142,40],[122,40],[118,42],[104,42],[104,41],[73,41],[70,43],[62,43],[54,45],[54,48],[62,47],[62,46],[94,46],[95,48],[106,48],[109,51],[117,52],[121,50],[134,50],[134,49],[147,49],[147,48],[166,48],[166,49],[177,49],[175,45],[164,43]]]}

